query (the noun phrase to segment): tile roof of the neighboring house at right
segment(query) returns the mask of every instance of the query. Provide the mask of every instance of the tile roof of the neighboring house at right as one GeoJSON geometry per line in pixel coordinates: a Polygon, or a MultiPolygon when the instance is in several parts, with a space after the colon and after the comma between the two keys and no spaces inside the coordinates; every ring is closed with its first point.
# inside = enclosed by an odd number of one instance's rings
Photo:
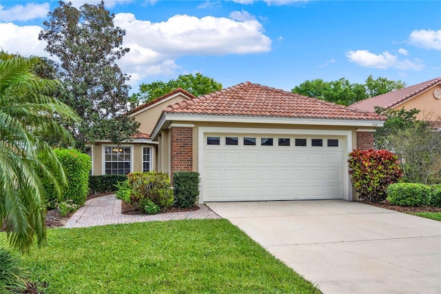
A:
{"type": "Polygon", "coordinates": [[[437,77],[436,79],[424,81],[423,83],[417,85],[358,101],[352,104],[350,107],[366,111],[375,111],[375,106],[380,106],[382,108],[391,108],[393,106],[396,106],[397,104],[400,104],[403,101],[406,101],[407,99],[411,99],[412,97],[418,95],[420,92],[423,92],[424,90],[427,90],[428,88],[431,88],[436,84],[440,84],[440,82],[441,77],[437,77]]]}

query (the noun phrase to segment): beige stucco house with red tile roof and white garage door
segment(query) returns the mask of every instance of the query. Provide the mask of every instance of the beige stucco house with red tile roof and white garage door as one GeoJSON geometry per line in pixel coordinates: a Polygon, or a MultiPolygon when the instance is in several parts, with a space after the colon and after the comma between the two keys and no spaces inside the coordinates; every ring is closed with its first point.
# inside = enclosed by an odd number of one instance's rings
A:
{"type": "Polygon", "coordinates": [[[201,173],[200,202],[347,199],[347,155],[373,148],[385,117],[246,82],[177,89],[136,108],[133,141],[92,146],[92,173],[201,173]],[[147,135],[148,134],[148,135],[147,135]]]}

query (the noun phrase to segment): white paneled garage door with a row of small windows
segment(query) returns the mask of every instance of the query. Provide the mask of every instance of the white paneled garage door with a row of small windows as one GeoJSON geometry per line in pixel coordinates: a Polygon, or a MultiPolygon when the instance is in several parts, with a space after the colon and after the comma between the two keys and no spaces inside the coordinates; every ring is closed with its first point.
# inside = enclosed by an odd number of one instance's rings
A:
{"type": "Polygon", "coordinates": [[[342,199],[345,137],[205,134],[204,202],[342,199]]]}

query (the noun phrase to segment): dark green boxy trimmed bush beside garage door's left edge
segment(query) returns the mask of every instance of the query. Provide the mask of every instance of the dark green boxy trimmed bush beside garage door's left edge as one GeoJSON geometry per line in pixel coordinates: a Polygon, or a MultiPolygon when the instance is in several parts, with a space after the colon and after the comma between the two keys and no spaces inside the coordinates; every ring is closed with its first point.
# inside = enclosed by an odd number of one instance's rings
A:
{"type": "Polygon", "coordinates": [[[180,171],[173,175],[174,206],[192,207],[199,197],[199,173],[193,171],[180,171]]]}

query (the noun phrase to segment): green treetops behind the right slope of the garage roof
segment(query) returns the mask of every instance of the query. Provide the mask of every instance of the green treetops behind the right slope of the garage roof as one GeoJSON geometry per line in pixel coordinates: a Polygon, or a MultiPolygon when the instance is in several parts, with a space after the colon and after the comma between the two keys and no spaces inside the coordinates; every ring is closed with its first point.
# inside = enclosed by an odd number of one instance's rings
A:
{"type": "Polygon", "coordinates": [[[295,86],[291,92],[348,106],[369,97],[404,88],[404,86],[402,81],[389,81],[382,77],[373,79],[370,75],[366,79],[366,84],[352,84],[345,78],[336,81],[307,80],[295,86]]]}

